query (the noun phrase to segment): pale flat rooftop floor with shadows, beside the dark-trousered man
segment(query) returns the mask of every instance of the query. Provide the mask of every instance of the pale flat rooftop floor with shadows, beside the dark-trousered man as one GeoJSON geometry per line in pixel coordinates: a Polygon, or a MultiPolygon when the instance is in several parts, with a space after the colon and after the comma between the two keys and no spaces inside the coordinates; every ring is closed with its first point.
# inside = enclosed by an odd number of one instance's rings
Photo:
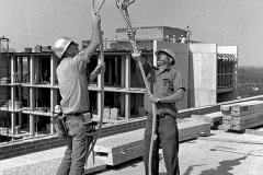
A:
{"type": "MultiPolygon", "coordinates": [[[[263,137],[230,133],[221,130],[211,132],[217,140],[221,139],[224,141],[213,141],[213,139],[191,140],[180,144],[181,175],[263,174],[263,143],[253,143],[263,139],[263,137]],[[228,138],[228,136],[230,137],[228,138]],[[229,139],[230,142],[227,142],[226,139],[229,139]],[[244,140],[248,143],[243,143],[244,140]]],[[[162,155],[161,150],[160,154],[162,155]]],[[[144,172],[142,160],[137,159],[122,164],[118,168],[107,168],[92,175],[144,175],[144,172]]],[[[160,160],[159,172],[159,175],[165,175],[163,159],[160,160]]]]}

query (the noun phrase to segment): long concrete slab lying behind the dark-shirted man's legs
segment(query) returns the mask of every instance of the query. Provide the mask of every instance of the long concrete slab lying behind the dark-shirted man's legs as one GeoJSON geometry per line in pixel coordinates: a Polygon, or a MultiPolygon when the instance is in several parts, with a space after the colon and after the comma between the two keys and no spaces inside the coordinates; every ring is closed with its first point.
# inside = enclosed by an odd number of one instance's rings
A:
{"type": "MultiPolygon", "coordinates": [[[[196,119],[179,119],[180,141],[207,136],[210,133],[210,125],[196,119]]],[[[101,138],[94,147],[95,158],[104,161],[107,165],[119,163],[142,156],[145,129],[124,132],[115,136],[101,138]]]]}

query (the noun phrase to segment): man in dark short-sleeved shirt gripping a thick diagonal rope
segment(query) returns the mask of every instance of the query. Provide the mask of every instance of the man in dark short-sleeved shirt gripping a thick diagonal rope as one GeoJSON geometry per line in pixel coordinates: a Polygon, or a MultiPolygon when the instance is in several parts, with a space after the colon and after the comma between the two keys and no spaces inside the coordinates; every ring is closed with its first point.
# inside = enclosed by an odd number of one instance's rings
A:
{"type": "Polygon", "coordinates": [[[145,92],[145,110],[147,121],[144,142],[145,171],[148,175],[149,150],[152,129],[152,104],[157,105],[157,140],[152,150],[152,175],[159,174],[159,147],[162,145],[163,158],[168,175],[179,175],[179,131],[176,124],[178,109],[175,103],[184,97],[185,86],[182,75],[171,66],[175,65],[175,54],[170,48],[156,51],[157,67],[149,65],[140,52],[133,54],[133,58],[144,66],[151,94],[145,92]]]}

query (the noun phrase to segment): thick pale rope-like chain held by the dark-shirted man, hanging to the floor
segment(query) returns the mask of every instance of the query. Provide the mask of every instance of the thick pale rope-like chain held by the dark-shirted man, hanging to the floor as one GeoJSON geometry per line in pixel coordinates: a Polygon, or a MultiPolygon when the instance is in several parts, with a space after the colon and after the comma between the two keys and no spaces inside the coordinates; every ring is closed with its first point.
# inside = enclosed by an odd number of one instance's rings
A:
{"type": "MultiPolygon", "coordinates": [[[[134,2],[135,2],[135,0],[132,0],[132,1],[129,1],[129,0],[116,0],[116,5],[119,9],[119,11],[122,12],[124,21],[127,25],[127,30],[130,33],[130,35],[128,35],[128,37],[129,37],[129,42],[133,46],[133,52],[138,54],[139,49],[138,49],[138,46],[137,46],[136,39],[135,39],[135,31],[132,27],[132,22],[130,22],[128,10],[127,10],[128,5],[134,3],[134,2]]],[[[147,81],[147,78],[146,78],[146,74],[145,74],[144,67],[142,67],[140,61],[138,61],[138,66],[139,66],[139,69],[140,69],[140,72],[141,72],[141,75],[142,75],[142,79],[144,79],[144,82],[145,82],[145,85],[146,85],[146,90],[148,92],[148,95],[150,95],[151,94],[150,88],[149,88],[149,84],[148,84],[148,81],[147,81]]],[[[151,129],[151,142],[150,142],[149,162],[148,162],[149,175],[152,174],[151,173],[151,162],[152,162],[151,160],[152,160],[152,151],[153,151],[153,147],[155,147],[155,141],[157,139],[157,133],[156,133],[156,129],[157,129],[156,110],[157,110],[157,106],[156,106],[155,103],[151,103],[151,107],[152,107],[152,129],[151,129]]]]}

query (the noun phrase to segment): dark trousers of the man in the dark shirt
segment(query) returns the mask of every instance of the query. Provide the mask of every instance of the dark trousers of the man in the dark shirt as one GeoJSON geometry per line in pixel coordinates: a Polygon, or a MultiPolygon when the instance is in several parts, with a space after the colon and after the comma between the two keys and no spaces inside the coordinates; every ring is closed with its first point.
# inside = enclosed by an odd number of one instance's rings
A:
{"type": "MultiPolygon", "coordinates": [[[[144,145],[144,163],[146,175],[149,174],[149,151],[151,142],[151,129],[152,129],[152,116],[147,116],[146,129],[145,129],[145,145],[144,145]]],[[[158,138],[155,141],[151,173],[152,175],[159,174],[159,147],[162,145],[163,159],[168,175],[180,175],[179,170],[179,131],[176,119],[173,116],[165,116],[163,118],[157,118],[157,135],[158,138]]]]}

